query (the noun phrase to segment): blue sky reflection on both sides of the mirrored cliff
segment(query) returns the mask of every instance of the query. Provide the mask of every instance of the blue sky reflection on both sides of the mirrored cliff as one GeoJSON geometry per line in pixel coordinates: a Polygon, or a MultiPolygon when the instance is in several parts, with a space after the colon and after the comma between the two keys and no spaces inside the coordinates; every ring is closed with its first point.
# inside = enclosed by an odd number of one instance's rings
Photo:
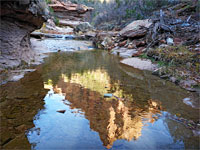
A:
{"type": "MultiPolygon", "coordinates": [[[[32,148],[106,149],[99,138],[101,133],[90,129],[89,120],[85,119],[83,114],[76,113],[78,109],[71,109],[65,105],[64,96],[52,95],[52,92],[50,91],[45,97],[45,109],[36,116],[34,121],[36,127],[28,133],[32,148]],[[66,112],[62,114],[56,112],[57,110],[66,112]]],[[[129,142],[123,139],[117,140],[113,144],[113,149],[184,148],[182,141],[173,141],[164,119],[160,118],[153,124],[146,124],[142,127],[142,131],[138,129],[141,136],[137,140],[132,139],[129,142]]]]}

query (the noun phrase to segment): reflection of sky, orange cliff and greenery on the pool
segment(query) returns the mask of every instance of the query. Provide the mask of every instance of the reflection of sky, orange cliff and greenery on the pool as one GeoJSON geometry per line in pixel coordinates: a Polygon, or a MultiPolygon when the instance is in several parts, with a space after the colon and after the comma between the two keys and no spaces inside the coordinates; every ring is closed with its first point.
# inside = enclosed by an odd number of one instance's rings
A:
{"type": "Polygon", "coordinates": [[[120,65],[105,52],[54,54],[43,66],[43,78],[53,93],[34,122],[40,135],[34,128],[28,135],[35,149],[199,147],[192,130],[165,115],[197,120],[198,110],[181,101],[188,94],[149,72],[120,65]],[[104,98],[105,93],[118,99],[104,98]],[[182,132],[174,134],[179,128],[182,132]]]}

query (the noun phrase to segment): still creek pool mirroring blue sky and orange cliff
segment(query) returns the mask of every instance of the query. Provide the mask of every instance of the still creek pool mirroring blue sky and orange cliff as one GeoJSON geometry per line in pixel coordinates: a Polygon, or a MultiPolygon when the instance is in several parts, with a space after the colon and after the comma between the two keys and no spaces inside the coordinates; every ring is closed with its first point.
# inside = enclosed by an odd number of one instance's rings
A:
{"type": "Polygon", "coordinates": [[[105,51],[50,54],[0,94],[3,148],[199,148],[199,110],[183,102],[198,95],[105,51]]]}

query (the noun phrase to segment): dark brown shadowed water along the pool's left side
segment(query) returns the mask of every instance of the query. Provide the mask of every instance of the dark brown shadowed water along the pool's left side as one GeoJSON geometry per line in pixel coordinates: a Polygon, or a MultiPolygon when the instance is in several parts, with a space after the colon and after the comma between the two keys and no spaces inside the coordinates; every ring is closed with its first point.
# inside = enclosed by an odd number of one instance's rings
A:
{"type": "Polygon", "coordinates": [[[20,81],[1,85],[1,148],[30,149],[25,131],[33,127],[33,118],[43,108],[46,93],[38,71],[20,81]]]}

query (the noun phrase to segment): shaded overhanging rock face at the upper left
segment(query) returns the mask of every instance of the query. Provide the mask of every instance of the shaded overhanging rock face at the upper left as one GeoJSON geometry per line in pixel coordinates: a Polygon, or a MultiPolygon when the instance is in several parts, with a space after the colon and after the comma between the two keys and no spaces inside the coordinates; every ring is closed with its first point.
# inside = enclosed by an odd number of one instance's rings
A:
{"type": "Polygon", "coordinates": [[[0,70],[30,63],[34,53],[30,47],[30,32],[42,26],[48,9],[44,1],[1,1],[0,70]]]}

